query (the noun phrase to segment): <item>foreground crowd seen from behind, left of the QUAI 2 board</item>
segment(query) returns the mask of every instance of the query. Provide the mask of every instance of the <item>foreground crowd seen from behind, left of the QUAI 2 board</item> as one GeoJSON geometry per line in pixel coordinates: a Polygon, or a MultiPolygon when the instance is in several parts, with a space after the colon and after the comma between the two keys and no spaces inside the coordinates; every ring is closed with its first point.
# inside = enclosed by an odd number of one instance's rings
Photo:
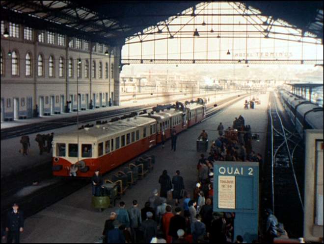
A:
{"type": "Polygon", "coordinates": [[[233,239],[234,213],[213,212],[212,175],[210,174],[209,180],[200,179],[200,182],[191,195],[189,191],[185,191],[180,171],[176,171],[171,179],[164,170],[159,178],[160,193],[155,189],[143,208],[138,206],[137,200],[133,200],[128,209],[125,202],[121,201],[119,208],[110,213],[103,230],[103,242],[243,242],[242,236],[233,239]],[[170,202],[175,202],[175,206],[168,204],[170,202]]]}

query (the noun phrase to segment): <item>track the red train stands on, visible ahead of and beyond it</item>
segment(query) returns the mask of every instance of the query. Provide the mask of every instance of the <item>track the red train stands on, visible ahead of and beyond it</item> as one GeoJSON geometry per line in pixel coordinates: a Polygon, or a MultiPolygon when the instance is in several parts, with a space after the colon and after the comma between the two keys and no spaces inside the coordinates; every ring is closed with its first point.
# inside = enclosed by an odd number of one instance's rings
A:
{"type": "MultiPolygon", "coordinates": [[[[220,112],[222,109],[226,108],[228,105],[231,105],[235,103],[236,101],[245,98],[249,95],[243,95],[243,96],[233,96],[230,98],[223,99],[221,101],[217,102],[217,106],[214,107],[213,105],[207,108],[207,115],[206,117],[210,117],[218,112],[220,112]]],[[[59,201],[60,199],[66,197],[67,195],[70,195],[77,190],[81,189],[82,187],[85,187],[90,183],[89,179],[71,179],[71,178],[57,178],[52,176],[52,162],[44,163],[42,166],[40,166],[38,169],[33,168],[29,169],[28,171],[24,171],[21,173],[17,173],[14,177],[18,179],[25,179],[26,181],[20,181],[17,185],[19,188],[22,188],[23,186],[30,186],[31,183],[35,180],[35,177],[37,180],[46,180],[50,182],[51,184],[48,184],[47,186],[37,190],[35,193],[26,195],[25,197],[21,197],[19,199],[20,208],[24,209],[24,215],[25,217],[29,217],[38,211],[44,209],[47,206],[52,205],[53,203],[59,201]],[[35,174],[35,172],[37,172],[35,174]],[[33,175],[34,177],[24,178],[23,175],[33,175]],[[45,177],[45,178],[40,178],[45,177]]],[[[8,182],[2,182],[4,185],[8,185],[10,182],[13,182],[13,179],[10,178],[10,181],[8,182]]],[[[25,191],[27,192],[28,189],[25,191]]],[[[11,187],[8,191],[2,191],[1,190],[1,216],[3,217],[4,214],[8,211],[8,209],[11,208],[11,204],[13,201],[17,201],[19,198],[19,195],[24,194],[24,191],[22,189],[15,189],[14,187],[11,187]]]]}

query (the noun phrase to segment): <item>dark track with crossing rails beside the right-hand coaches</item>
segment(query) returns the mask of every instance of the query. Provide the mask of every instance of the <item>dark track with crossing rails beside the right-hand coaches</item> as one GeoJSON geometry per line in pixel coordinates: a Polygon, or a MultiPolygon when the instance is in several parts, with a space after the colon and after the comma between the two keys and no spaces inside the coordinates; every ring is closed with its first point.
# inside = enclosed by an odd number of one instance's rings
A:
{"type": "MultiPolygon", "coordinates": [[[[300,186],[303,162],[302,142],[294,127],[282,120],[278,99],[270,94],[270,160],[264,179],[264,190],[268,193],[268,206],[272,208],[279,222],[284,223],[290,237],[302,233],[303,196],[300,186]],[[292,128],[292,129],[291,129],[292,128]],[[298,155],[297,155],[298,154],[298,155]],[[296,170],[298,168],[298,171],[296,170]],[[269,204],[271,199],[271,204],[269,204]]],[[[268,148],[269,149],[269,148],[268,148]]]]}

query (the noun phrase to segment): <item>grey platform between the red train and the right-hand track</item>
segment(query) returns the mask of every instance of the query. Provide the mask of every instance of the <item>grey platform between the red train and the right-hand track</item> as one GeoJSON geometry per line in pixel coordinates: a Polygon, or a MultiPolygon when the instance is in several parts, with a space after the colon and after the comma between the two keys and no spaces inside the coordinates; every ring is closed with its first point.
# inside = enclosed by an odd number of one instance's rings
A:
{"type": "MultiPolygon", "coordinates": [[[[200,135],[202,129],[205,129],[209,135],[209,146],[211,146],[211,139],[218,135],[216,128],[219,122],[222,122],[224,128],[227,128],[232,126],[233,120],[239,115],[244,117],[245,124],[251,126],[253,134],[258,133],[260,135],[259,142],[252,142],[252,148],[255,152],[263,155],[266,146],[269,94],[259,95],[259,98],[261,105],[257,105],[255,109],[244,110],[244,99],[242,99],[209,117],[204,122],[180,133],[175,152],[170,151],[170,140],[165,143],[164,149],[161,145],[158,145],[146,152],[156,156],[154,170],[128,189],[126,194],[121,196],[120,201],[124,201],[128,209],[131,207],[132,201],[136,199],[139,208],[143,208],[144,203],[152,195],[152,191],[155,188],[160,190],[158,178],[163,170],[167,170],[170,177],[175,174],[176,170],[180,170],[186,190],[192,192],[197,180],[196,165],[200,158],[200,152],[196,151],[196,138],[200,135]]],[[[116,171],[118,169],[104,175],[104,178],[109,178],[116,171]]],[[[182,206],[182,202],[180,206],[182,206]]],[[[174,210],[174,202],[168,203],[172,204],[174,210]]],[[[108,208],[104,212],[92,208],[91,185],[88,185],[25,220],[21,242],[95,243],[101,237],[109,213],[116,210],[117,205],[118,201],[116,207],[108,208]]]]}

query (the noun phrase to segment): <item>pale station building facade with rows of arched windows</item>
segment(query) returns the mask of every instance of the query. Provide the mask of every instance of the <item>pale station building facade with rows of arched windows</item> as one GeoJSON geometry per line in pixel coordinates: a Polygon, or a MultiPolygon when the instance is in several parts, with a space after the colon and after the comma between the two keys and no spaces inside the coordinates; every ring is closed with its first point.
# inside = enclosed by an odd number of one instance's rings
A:
{"type": "Polygon", "coordinates": [[[1,122],[119,105],[119,53],[1,21],[1,122]]]}

